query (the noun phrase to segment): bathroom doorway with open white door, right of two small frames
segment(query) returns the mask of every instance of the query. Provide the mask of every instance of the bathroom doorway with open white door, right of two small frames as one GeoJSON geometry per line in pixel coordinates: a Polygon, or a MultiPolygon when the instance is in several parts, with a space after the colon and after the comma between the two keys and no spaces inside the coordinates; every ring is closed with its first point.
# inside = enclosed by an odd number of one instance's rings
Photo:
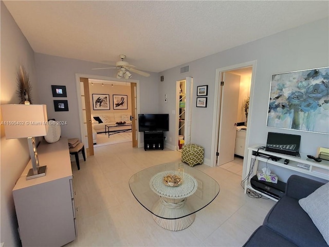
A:
{"type": "Polygon", "coordinates": [[[212,166],[232,162],[236,155],[245,156],[249,142],[245,110],[250,116],[255,65],[256,61],[251,61],[216,70],[212,166]],[[245,131],[243,140],[241,129],[245,131]]]}

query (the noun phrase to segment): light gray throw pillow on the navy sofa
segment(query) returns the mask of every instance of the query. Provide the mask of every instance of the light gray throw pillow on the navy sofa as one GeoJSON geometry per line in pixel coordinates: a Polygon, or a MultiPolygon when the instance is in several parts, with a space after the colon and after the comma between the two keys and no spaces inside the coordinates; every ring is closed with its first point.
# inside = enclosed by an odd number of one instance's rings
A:
{"type": "Polygon", "coordinates": [[[298,202],[329,245],[329,183],[298,202]]]}

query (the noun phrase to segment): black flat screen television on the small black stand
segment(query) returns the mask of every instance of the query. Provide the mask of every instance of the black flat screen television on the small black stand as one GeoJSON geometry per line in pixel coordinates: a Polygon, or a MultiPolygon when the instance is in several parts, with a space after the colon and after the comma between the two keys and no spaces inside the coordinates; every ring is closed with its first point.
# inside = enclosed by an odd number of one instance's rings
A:
{"type": "Polygon", "coordinates": [[[169,114],[138,114],[138,131],[169,131],[169,114]]]}

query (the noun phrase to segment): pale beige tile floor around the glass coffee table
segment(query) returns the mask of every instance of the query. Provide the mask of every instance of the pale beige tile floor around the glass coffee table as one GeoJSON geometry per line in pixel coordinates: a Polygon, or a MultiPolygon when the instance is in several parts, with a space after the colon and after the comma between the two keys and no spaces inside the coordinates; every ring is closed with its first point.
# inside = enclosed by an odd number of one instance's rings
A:
{"type": "Polygon", "coordinates": [[[275,202],[244,194],[241,158],[221,167],[195,166],[214,178],[221,191],[185,230],[161,228],[136,201],[130,177],[180,157],[178,151],[144,151],[121,143],[95,148],[95,156],[81,162],[79,171],[72,162],[79,235],[66,246],[242,246],[275,202]]]}

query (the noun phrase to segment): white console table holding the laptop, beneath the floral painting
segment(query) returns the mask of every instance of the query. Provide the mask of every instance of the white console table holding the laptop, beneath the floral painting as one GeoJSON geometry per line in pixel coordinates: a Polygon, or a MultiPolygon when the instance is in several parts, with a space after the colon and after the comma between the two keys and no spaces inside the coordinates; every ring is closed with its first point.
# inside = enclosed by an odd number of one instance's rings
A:
{"type": "Polygon", "coordinates": [[[300,153],[300,157],[295,157],[295,156],[290,156],[290,155],[285,155],[285,154],[280,154],[280,153],[273,153],[273,152],[268,152],[268,151],[259,149],[259,147],[264,147],[264,146],[265,145],[254,145],[254,146],[251,146],[248,148],[247,168],[246,168],[245,177],[247,176],[247,174],[250,171],[250,167],[252,166],[251,162],[254,160],[254,158],[255,158],[255,163],[254,163],[252,174],[250,175],[249,179],[245,182],[245,186],[244,186],[245,193],[247,192],[247,189],[251,189],[251,190],[254,190],[255,192],[260,193],[261,195],[263,195],[265,197],[268,197],[274,201],[278,201],[277,199],[269,197],[268,195],[262,193],[259,190],[255,190],[250,185],[250,179],[253,177],[253,175],[255,175],[257,173],[259,161],[267,162],[267,164],[280,166],[285,169],[301,172],[301,173],[311,175],[313,177],[317,177],[320,179],[329,180],[329,161],[322,160],[322,162],[315,162],[314,160],[308,158],[307,154],[305,154],[305,153],[300,153]],[[257,153],[257,151],[260,154],[280,157],[281,160],[272,161],[270,158],[255,156],[254,154],[257,153]],[[289,163],[287,165],[284,164],[285,159],[289,160],[289,163]],[[300,168],[297,166],[297,164],[299,164],[299,163],[309,165],[309,168],[308,169],[300,168]]]}

